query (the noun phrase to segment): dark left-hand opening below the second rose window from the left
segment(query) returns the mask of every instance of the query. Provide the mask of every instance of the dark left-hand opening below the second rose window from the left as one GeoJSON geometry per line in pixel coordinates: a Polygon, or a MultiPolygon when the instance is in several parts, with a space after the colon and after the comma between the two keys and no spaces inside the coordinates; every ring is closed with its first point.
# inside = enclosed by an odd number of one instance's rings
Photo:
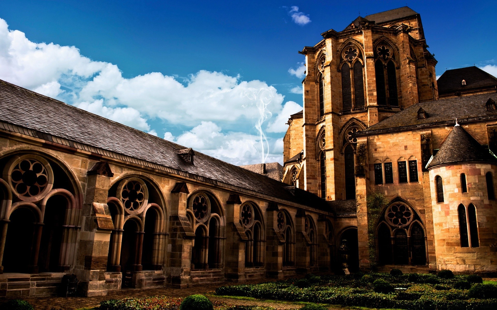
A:
{"type": "Polygon", "coordinates": [[[123,227],[121,244],[121,271],[123,272],[123,286],[133,286],[132,271],[137,270],[138,233],[140,228],[135,220],[127,220],[123,227]]]}

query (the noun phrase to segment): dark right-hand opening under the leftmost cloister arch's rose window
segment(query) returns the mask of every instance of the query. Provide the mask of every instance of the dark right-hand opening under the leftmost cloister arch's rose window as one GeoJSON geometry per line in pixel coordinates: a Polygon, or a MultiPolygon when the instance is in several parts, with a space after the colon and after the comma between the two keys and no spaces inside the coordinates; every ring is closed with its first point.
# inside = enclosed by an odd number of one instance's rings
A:
{"type": "Polygon", "coordinates": [[[38,255],[40,272],[62,271],[60,256],[67,206],[67,198],[62,195],[52,196],[47,201],[38,255]]]}

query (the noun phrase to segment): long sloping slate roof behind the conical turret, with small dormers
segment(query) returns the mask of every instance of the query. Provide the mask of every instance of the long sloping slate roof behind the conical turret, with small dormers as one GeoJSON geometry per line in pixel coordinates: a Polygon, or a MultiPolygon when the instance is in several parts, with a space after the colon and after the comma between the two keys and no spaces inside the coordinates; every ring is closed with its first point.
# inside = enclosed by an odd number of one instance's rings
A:
{"type": "Polygon", "coordinates": [[[494,120],[497,119],[497,110],[487,111],[485,105],[489,98],[497,102],[497,93],[417,103],[378,124],[357,132],[356,135],[364,136],[421,127],[454,125],[456,118],[459,123],[494,120]],[[426,111],[426,119],[417,119],[419,108],[426,111]]]}

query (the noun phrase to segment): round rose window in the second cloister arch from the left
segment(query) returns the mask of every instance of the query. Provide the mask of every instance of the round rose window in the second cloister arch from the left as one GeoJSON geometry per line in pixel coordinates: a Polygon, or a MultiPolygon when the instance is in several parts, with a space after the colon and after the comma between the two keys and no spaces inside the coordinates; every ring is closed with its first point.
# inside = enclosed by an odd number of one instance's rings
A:
{"type": "Polygon", "coordinates": [[[121,181],[117,187],[117,195],[126,212],[132,215],[140,214],[149,199],[147,186],[138,178],[121,181]]]}

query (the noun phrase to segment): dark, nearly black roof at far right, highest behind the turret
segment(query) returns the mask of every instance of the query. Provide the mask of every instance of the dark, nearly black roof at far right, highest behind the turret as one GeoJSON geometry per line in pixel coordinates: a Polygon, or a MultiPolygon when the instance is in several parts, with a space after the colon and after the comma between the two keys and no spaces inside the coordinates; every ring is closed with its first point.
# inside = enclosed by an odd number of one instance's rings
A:
{"type": "Polygon", "coordinates": [[[450,94],[470,89],[497,86],[497,77],[477,66],[447,70],[437,80],[438,93],[450,94]],[[466,85],[462,85],[462,80],[466,85]]]}

